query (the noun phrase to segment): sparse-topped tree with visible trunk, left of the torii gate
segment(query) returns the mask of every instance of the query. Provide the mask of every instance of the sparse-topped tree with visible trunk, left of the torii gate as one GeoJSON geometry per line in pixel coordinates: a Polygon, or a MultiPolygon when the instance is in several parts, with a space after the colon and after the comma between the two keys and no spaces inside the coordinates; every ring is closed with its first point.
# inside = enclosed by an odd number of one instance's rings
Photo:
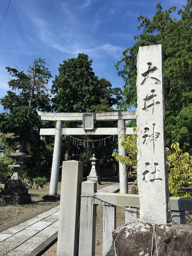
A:
{"type": "Polygon", "coordinates": [[[0,99],[0,104],[5,112],[0,113],[0,129],[2,132],[12,132],[19,135],[22,151],[27,146],[28,153],[33,165],[38,157],[38,172],[40,172],[40,135],[42,127],[37,110],[49,111],[50,98],[47,90],[50,71],[45,66],[44,59],[35,59],[28,71],[6,67],[13,77],[8,81],[9,87],[16,91],[8,90],[7,94],[0,99]]]}

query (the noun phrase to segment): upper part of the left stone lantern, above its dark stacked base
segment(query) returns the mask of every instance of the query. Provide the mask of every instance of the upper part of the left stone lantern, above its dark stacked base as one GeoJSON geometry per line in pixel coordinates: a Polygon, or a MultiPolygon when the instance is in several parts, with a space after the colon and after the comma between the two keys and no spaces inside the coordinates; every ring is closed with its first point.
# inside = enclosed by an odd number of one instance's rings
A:
{"type": "Polygon", "coordinates": [[[26,167],[26,165],[24,165],[24,158],[29,158],[31,155],[21,152],[21,145],[18,145],[16,152],[6,154],[6,156],[12,158],[12,164],[8,165],[13,167],[13,174],[10,178],[18,179],[20,176],[20,171],[26,167]]]}

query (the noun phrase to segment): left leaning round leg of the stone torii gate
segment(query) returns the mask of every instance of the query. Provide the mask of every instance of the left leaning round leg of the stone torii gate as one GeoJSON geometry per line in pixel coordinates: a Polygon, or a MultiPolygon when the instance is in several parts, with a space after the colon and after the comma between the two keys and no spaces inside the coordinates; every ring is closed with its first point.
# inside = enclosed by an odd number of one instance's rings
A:
{"type": "Polygon", "coordinates": [[[63,121],[56,121],[54,149],[53,149],[53,156],[52,156],[52,168],[51,168],[51,174],[50,174],[49,195],[57,194],[58,173],[59,173],[59,164],[60,164],[60,149],[61,149],[61,141],[62,141],[62,125],[63,125],[63,121]]]}

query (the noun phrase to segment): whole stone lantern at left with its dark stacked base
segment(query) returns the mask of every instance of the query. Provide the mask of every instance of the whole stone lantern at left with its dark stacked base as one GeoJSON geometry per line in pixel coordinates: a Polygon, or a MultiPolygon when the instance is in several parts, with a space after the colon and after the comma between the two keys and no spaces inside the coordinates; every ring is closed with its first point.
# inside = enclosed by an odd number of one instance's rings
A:
{"type": "Polygon", "coordinates": [[[12,158],[12,164],[8,166],[13,167],[11,175],[8,175],[8,180],[4,184],[4,188],[0,192],[1,204],[23,204],[31,201],[31,195],[28,194],[28,188],[22,181],[20,171],[26,167],[24,165],[24,158],[29,158],[31,155],[21,152],[21,145],[17,146],[16,152],[6,154],[12,158]]]}

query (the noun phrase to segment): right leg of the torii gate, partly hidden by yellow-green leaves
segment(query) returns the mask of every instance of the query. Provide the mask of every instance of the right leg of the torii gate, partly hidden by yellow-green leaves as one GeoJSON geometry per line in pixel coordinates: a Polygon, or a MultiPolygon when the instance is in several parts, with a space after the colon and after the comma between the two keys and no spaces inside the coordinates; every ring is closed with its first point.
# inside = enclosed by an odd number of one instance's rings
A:
{"type": "MultiPolygon", "coordinates": [[[[125,134],[125,121],[123,119],[118,119],[118,153],[126,156],[126,149],[120,145],[122,138],[121,135],[125,134]]],[[[120,193],[128,193],[128,183],[127,183],[127,175],[123,174],[127,172],[127,166],[125,163],[118,162],[118,171],[119,171],[119,185],[120,185],[120,193]]]]}

